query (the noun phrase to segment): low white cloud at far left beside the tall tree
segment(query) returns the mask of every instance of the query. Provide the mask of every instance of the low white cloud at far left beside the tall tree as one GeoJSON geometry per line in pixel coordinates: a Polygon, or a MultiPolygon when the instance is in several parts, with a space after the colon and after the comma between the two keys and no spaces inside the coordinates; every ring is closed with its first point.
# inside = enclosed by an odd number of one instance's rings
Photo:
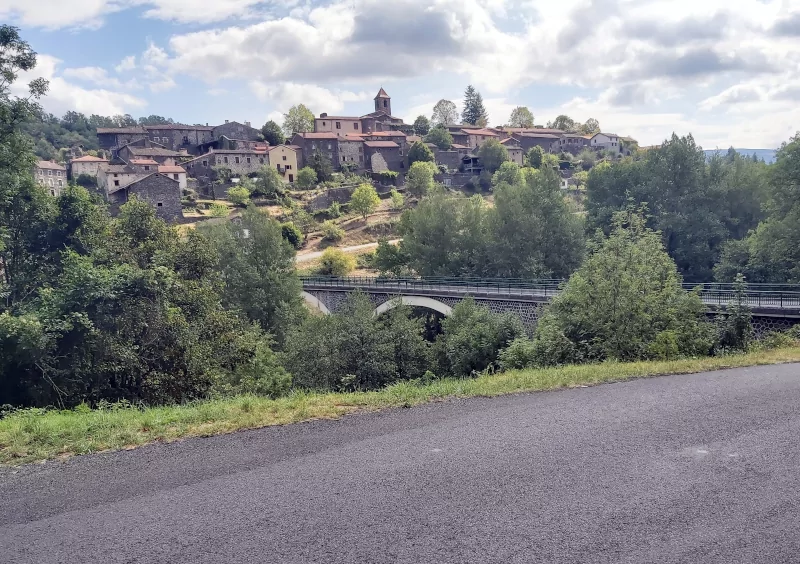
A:
{"type": "MultiPolygon", "coordinates": [[[[146,102],[141,98],[125,92],[117,92],[106,88],[84,88],[64,78],[58,72],[61,61],[50,55],[39,55],[36,68],[20,73],[13,85],[16,94],[25,93],[28,82],[34,78],[46,78],[50,82],[47,96],[42,106],[48,112],[63,114],[70,110],[85,114],[114,115],[128,113],[143,108],[146,102]]],[[[78,74],[92,75],[95,71],[81,71],[78,74]]]]}

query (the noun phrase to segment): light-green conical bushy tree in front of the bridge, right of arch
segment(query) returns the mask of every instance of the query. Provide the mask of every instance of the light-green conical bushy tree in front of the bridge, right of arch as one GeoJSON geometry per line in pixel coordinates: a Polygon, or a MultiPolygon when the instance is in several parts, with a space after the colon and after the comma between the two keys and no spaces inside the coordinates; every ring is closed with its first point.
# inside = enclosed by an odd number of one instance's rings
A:
{"type": "Polygon", "coordinates": [[[611,235],[592,247],[540,319],[537,362],[708,354],[713,332],[703,304],[681,289],[675,263],[643,215],[616,214],[611,235]]]}

